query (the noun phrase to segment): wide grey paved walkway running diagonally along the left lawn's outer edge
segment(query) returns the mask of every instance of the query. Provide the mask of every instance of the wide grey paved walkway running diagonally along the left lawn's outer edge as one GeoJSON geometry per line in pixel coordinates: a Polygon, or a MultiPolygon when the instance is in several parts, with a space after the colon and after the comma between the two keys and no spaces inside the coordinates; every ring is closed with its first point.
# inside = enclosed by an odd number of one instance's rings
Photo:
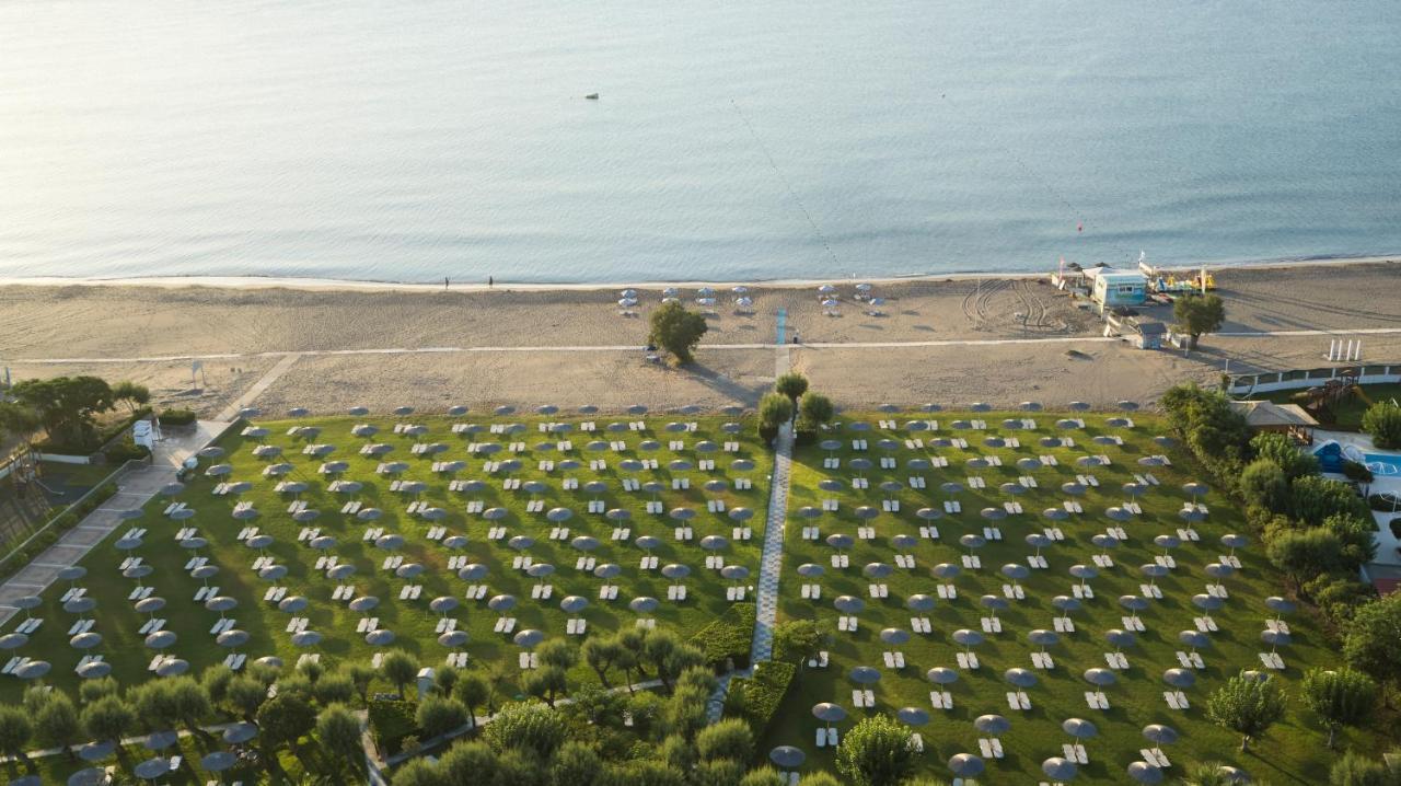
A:
{"type": "Polygon", "coordinates": [[[77,527],[64,532],[56,544],[34,558],[28,566],[6,580],[4,584],[0,584],[0,628],[18,612],[13,605],[17,598],[43,593],[49,584],[53,584],[60,570],[77,565],[94,546],[122,525],[120,511],[142,507],[150,502],[161,486],[175,479],[175,472],[185,458],[212,443],[227,426],[228,423],[217,420],[200,420],[193,430],[168,434],[165,440],[157,443],[151,464],[129,469],[119,476],[115,496],[102,507],[87,514],[77,527]]]}

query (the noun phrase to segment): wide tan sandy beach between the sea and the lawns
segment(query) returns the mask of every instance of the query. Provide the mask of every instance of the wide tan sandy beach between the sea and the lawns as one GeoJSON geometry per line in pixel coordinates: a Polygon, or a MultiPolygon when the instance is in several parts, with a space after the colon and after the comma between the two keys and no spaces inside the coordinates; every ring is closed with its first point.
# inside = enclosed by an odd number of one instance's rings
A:
{"type": "MultiPolygon", "coordinates": [[[[167,405],[219,415],[256,385],[265,408],[339,411],[511,402],[622,408],[754,402],[787,364],[846,405],[1152,401],[1182,380],[1324,364],[1328,336],[1363,360],[1401,363],[1401,263],[1366,261],[1213,270],[1229,321],[1201,352],[1140,352],[1045,277],[877,282],[881,315],[850,301],[824,314],[811,283],[750,284],[754,314],[722,305],[698,363],[646,360],[661,286],[374,287],[199,280],[0,286],[0,363],[15,378],[98,374],[151,387],[167,405]],[[786,339],[775,347],[779,312],[786,339]],[[1020,314],[1026,314],[1023,325],[1020,314]],[[192,378],[191,363],[202,374],[192,378]]],[[[682,294],[693,297],[693,286],[682,294]]],[[[1167,308],[1149,315],[1170,321],[1167,308]]]]}

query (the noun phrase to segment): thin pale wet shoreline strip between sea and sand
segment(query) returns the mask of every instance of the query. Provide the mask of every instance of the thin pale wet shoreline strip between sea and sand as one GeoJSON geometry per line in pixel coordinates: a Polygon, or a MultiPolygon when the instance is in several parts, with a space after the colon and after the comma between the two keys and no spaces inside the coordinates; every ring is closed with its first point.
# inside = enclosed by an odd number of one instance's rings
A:
{"type": "MultiPolygon", "coordinates": [[[[1323,256],[1302,259],[1259,259],[1229,263],[1206,265],[1163,265],[1160,270],[1173,273],[1188,273],[1206,268],[1212,272],[1222,270],[1269,270],[1289,268],[1314,266],[1346,266],[1346,265],[1379,265],[1401,262],[1401,254],[1383,256],[1323,256]]],[[[151,289],[227,289],[227,290],[266,290],[287,289],[307,291],[602,291],[614,289],[643,289],[656,290],[668,286],[677,287],[716,287],[729,289],[733,286],[751,286],[764,289],[801,289],[821,284],[843,283],[871,283],[871,284],[906,284],[906,283],[934,283],[934,282],[971,282],[971,280],[1031,280],[1048,277],[1051,270],[1044,272],[958,272],[937,275],[909,275],[885,277],[831,277],[831,279],[755,279],[731,282],[587,282],[587,283],[516,283],[497,282],[495,286],[485,283],[453,283],[443,287],[437,283],[410,282],[378,282],[354,279],[317,279],[296,276],[149,276],[149,277],[118,277],[118,279],[90,279],[90,277],[62,277],[62,276],[31,276],[17,279],[0,279],[0,287],[151,287],[151,289]]]]}

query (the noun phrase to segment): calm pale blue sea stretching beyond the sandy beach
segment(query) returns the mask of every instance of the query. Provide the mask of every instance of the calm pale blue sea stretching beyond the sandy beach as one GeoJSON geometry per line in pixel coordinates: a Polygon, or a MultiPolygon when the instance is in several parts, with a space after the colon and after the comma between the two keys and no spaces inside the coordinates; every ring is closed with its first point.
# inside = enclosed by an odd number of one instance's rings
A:
{"type": "Polygon", "coordinates": [[[0,277],[1395,252],[1398,39],[1370,0],[6,3],[0,277]]]}

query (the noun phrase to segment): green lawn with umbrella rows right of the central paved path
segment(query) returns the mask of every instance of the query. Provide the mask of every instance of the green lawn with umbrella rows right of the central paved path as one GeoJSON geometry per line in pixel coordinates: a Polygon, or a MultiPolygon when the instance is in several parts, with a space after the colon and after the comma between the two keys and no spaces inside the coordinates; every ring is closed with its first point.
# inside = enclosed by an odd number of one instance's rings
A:
{"type": "MultiPolygon", "coordinates": [[[[1282,580],[1261,555],[1258,544],[1252,544],[1238,555],[1243,560],[1243,570],[1226,580],[1230,600],[1226,607],[1215,614],[1220,632],[1210,636],[1210,647],[1202,650],[1206,668],[1198,671],[1198,681],[1194,688],[1187,689],[1191,709],[1187,712],[1173,710],[1163,698],[1167,685],[1161,681],[1164,670],[1178,667],[1175,651],[1181,647],[1177,642],[1180,630],[1194,629],[1194,616],[1201,614],[1192,604],[1191,597],[1205,593],[1208,583],[1203,566],[1216,562],[1217,555],[1226,553],[1219,546],[1219,538],[1226,532],[1243,532],[1244,523],[1238,511],[1222,495],[1212,492],[1203,502],[1210,509],[1210,516],[1196,525],[1199,542],[1184,544],[1175,549],[1177,567],[1170,576],[1160,579],[1164,598],[1152,601],[1150,608],[1140,618],[1147,629],[1139,635],[1139,642],[1126,650],[1131,668],[1118,674],[1117,685],[1104,689],[1112,709],[1090,709],[1084,701],[1084,692],[1090,685],[1082,674],[1087,668],[1105,667],[1104,653],[1110,650],[1104,642],[1104,632],[1112,628],[1122,628],[1121,616],[1128,614],[1121,609],[1117,600],[1125,594],[1139,594],[1139,584],[1146,581],[1139,574],[1138,567],[1160,553],[1153,546],[1153,537],[1159,534],[1175,534],[1182,521],[1177,510],[1187,499],[1180,490],[1181,483],[1195,479],[1191,460],[1181,450],[1168,450],[1173,467],[1145,468],[1138,464],[1138,458],[1147,454],[1164,453],[1152,441],[1152,436],[1160,433],[1161,423],[1153,416],[1135,413],[1133,429],[1105,427],[1104,416],[1084,416],[1086,429],[1065,432],[1056,429],[1055,423],[1061,415],[1051,413],[939,413],[939,415],[869,415],[850,416],[852,420],[863,420],[876,426],[878,419],[895,419],[899,427],[883,430],[873,427],[866,433],[856,433],[848,429],[834,432],[842,440],[842,450],[832,455],[841,458],[841,468],[824,469],[822,462],[829,454],[818,446],[803,447],[794,457],[793,493],[789,500],[789,518],[785,534],[783,581],[780,584],[780,618],[803,619],[814,618],[822,629],[831,632],[827,649],[831,653],[831,666],[825,670],[804,668],[799,673],[796,688],[789,694],[778,717],[786,719],[772,729],[762,743],[764,750],[778,744],[799,745],[808,752],[807,768],[832,769],[829,750],[818,750],[814,745],[814,731],[818,727],[810,709],[817,702],[835,702],[842,705],[849,717],[841,723],[841,729],[850,729],[852,723],[869,712],[894,713],[899,708],[913,706],[929,712],[932,720],[919,729],[923,736],[926,752],[923,755],[922,771],[927,775],[948,778],[947,761],[957,752],[978,752],[979,734],[972,720],[985,713],[1003,715],[1012,722],[1010,731],[1003,737],[1006,758],[989,761],[988,772],[979,783],[1035,783],[1041,778],[1041,762],[1049,757],[1062,755],[1061,745],[1069,737],[1061,731],[1061,723],[1069,717],[1091,720],[1098,727],[1098,737],[1086,744],[1090,764],[1080,768],[1077,783],[1124,783],[1128,782],[1125,768],[1129,762],[1139,759],[1139,750],[1150,747],[1140,737],[1140,729],[1149,723],[1164,723],[1177,729],[1182,740],[1167,747],[1167,752],[1174,762],[1174,768],[1167,775],[1181,775],[1181,765],[1201,759],[1223,759],[1243,766],[1254,776],[1268,779],[1271,783],[1321,783],[1327,780],[1327,772],[1332,755],[1324,750],[1324,736],[1316,720],[1302,709],[1296,696],[1290,701],[1288,719],[1275,726],[1262,740],[1252,744],[1250,754],[1237,751],[1238,738],[1216,726],[1205,717],[1206,696],[1226,677],[1236,674],[1241,668],[1261,668],[1257,653],[1261,651],[1259,633],[1264,629],[1267,608],[1264,598],[1278,594],[1282,580]],[[937,432],[912,433],[904,429],[909,418],[934,418],[939,420],[937,432]],[[954,430],[951,425],[957,419],[978,418],[986,422],[988,430],[954,430]],[[1034,430],[1005,430],[1005,418],[1033,418],[1037,427],[1034,430]],[[1021,441],[1020,448],[989,448],[984,446],[984,439],[989,436],[1014,436],[1021,441]],[[1040,437],[1049,434],[1069,436],[1075,440],[1073,448],[1048,450],[1038,444],[1040,437]],[[1100,447],[1090,440],[1096,434],[1121,434],[1125,440],[1122,447],[1100,447]],[[850,479],[857,474],[849,468],[849,462],[857,453],[850,450],[850,440],[863,437],[869,441],[867,451],[862,453],[876,465],[874,469],[862,472],[869,479],[869,490],[853,490],[850,479]],[[929,447],[932,437],[962,437],[968,441],[967,450],[957,447],[929,447]],[[878,440],[894,439],[898,448],[884,451],[878,447],[878,440]],[[923,439],[923,448],[906,448],[906,439],[923,439]],[[1093,450],[1087,450],[1093,448],[1093,450]],[[1086,453],[1108,454],[1112,464],[1093,469],[1076,467],[1076,458],[1086,453]],[[1035,471],[1023,472],[1014,462],[1017,458],[1055,455],[1058,467],[1044,467],[1035,471]],[[880,469],[880,457],[891,455],[897,460],[898,468],[880,469]],[[906,468],[906,461],[916,457],[941,455],[948,460],[948,467],[943,469],[929,469],[923,472],[906,468]],[[974,455],[998,455],[1002,467],[985,469],[971,469],[965,460],[974,455]],[[1059,594],[1070,594],[1075,580],[1068,569],[1076,563],[1091,563],[1091,558],[1098,552],[1090,544],[1091,535],[1103,532],[1107,524],[1112,524],[1104,510],[1119,504],[1125,496],[1121,485],[1133,481],[1133,474],[1152,472],[1161,485],[1150,488],[1140,504],[1142,516],[1135,516],[1122,524],[1129,539],[1111,552],[1115,567],[1103,570],[1091,581],[1094,600],[1084,601],[1082,611],[1072,615],[1076,630],[1061,636],[1061,642],[1049,647],[1049,654],[1055,659],[1055,667],[1047,671],[1033,668],[1031,654],[1037,650],[1027,640],[1031,629],[1052,629],[1052,618],[1058,612],[1052,608],[1051,600],[1059,594]],[[1042,553],[1048,559],[1048,569],[1033,570],[1031,577],[1021,581],[1026,588],[1026,600],[1010,601],[1010,608],[1000,612],[1003,632],[989,633],[986,643],[976,647],[981,659],[981,668],[976,671],[960,670],[960,680],[950,685],[954,709],[951,712],[933,709],[929,698],[933,684],[925,680],[925,673],[932,667],[957,668],[955,656],[961,647],[955,644],[950,635],[955,629],[967,628],[981,630],[981,618],[985,611],[979,607],[979,597],[995,594],[1002,597],[1003,584],[1007,580],[999,573],[1005,563],[1026,565],[1026,558],[1033,549],[1024,542],[1028,532],[1041,532],[1044,527],[1058,523],[1042,518],[1042,509],[1061,506],[1068,495],[1059,486],[1063,482],[1075,481],[1079,474],[1093,474],[1100,486],[1090,489],[1079,497],[1084,513],[1072,516],[1068,521],[1059,523],[1065,539],[1054,544],[1042,553]],[[908,478],[922,475],[926,478],[926,490],[912,490],[908,488],[908,478]],[[964,490],[955,496],[940,490],[940,483],[954,481],[968,485],[968,476],[978,475],[986,482],[985,490],[964,490]],[[1038,488],[1021,496],[1010,496],[999,490],[1005,482],[1017,482],[1020,475],[1031,475],[1038,482],[1038,488]],[[841,482],[842,490],[825,492],[818,489],[824,478],[834,478],[841,482]],[[876,538],[856,539],[855,546],[846,553],[850,556],[850,567],[836,570],[831,567],[831,558],[835,551],[824,541],[806,541],[801,538],[804,525],[818,525],[821,538],[831,534],[843,532],[856,538],[860,521],[855,516],[857,506],[881,507],[885,496],[878,485],[884,481],[895,481],[906,488],[895,495],[901,502],[899,513],[880,513],[869,524],[876,530],[876,538]],[[824,499],[835,499],[839,510],[824,513],[820,518],[806,520],[799,516],[804,506],[821,507],[824,499]],[[919,535],[918,527],[922,524],[915,517],[915,511],[922,506],[933,506],[943,510],[943,500],[957,499],[962,504],[961,514],[946,516],[932,524],[939,528],[939,539],[920,539],[912,548],[895,549],[891,538],[897,534],[919,535]],[[1016,499],[1024,507],[1024,514],[1009,516],[1000,523],[985,521],[979,510],[988,506],[1000,507],[1003,502],[1016,499]],[[989,541],[986,546],[978,549],[982,567],[978,570],[964,570],[953,584],[958,597],[953,601],[937,601],[936,608],[927,614],[933,632],[930,635],[915,633],[902,646],[888,646],[880,639],[884,628],[911,629],[911,616],[915,614],[905,608],[905,598],[923,593],[936,595],[936,583],[930,574],[930,567],[936,563],[960,563],[961,556],[968,553],[960,548],[958,538],[964,534],[982,534],[985,524],[999,524],[1003,539],[989,541]],[[862,574],[862,567],[871,562],[883,562],[894,566],[895,553],[912,555],[916,560],[913,570],[897,569],[890,579],[888,600],[873,600],[869,594],[871,583],[862,574]],[[797,567],[803,563],[817,563],[827,567],[821,579],[803,579],[797,567]],[[821,600],[814,602],[803,600],[801,584],[818,581],[822,586],[821,600]],[[838,611],[832,601],[838,595],[855,595],[866,602],[866,609],[860,612],[859,630],[856,633],[842,633],[836,630],[838,611]],[[904,653],[906,667],[904,670],[888,668],[883,663],[883,651],[899,650],[904,653]],[[855,666],[871,666],[880,670],[881,680],[873,685],[876,694],[876,710],[857,709],[852,701],[852,689],[856,688],[848,680],[848,671],[855,666]],[[1012,710],[1005,698],[1012,689],[1003,681],[1007,668],[1021,667],[1037,673],[1040,682],[1027,692],[1031,699],[1030,710],[1012,710]]],[[[1283,647],[1282,653],[1288,668],[1281,674],[1290,692],[1295,692],[1304,670],[1317,666],[1328,666],[1339,661],[1331,644],[1324,639],[1320,629],[1304,615],[1295,615],[1288,619],[1295,643],[1283,647]]],[[[1268,650],[1268,647],[1264,647],[1268,650]]],[[[1355,745],[1367,751],[1376,751],[1381,741],[1370,733],[1353,733],[1341,736],[1341,745],[1355,745]]]]}

